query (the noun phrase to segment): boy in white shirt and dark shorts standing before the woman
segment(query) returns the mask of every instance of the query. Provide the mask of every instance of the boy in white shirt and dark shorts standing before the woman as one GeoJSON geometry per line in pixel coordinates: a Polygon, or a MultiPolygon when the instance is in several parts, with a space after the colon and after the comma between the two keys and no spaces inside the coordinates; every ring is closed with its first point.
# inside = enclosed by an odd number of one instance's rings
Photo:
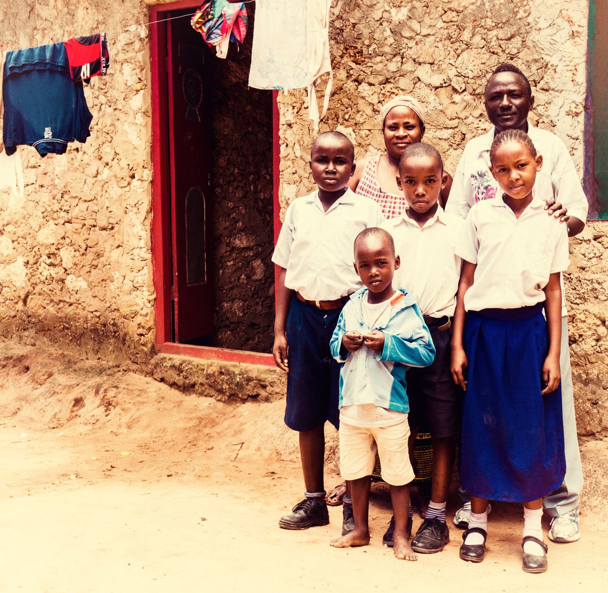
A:
{"type": "MultiPolygon", "coordinates": [[[[438,204],[445,183],[438,151],[426,143],[408,146],[399,162],[397,177],[407,209],[381,225],[395,239],[397,252],[407,253],[407,266],[398,270],[395,284],[412,292],[437,349],[432,365],[407,374],[412,438],[421,425],[429,427],[433,438],[430,504],[412,540],[413,550],[421,554],[440,552],[449,542],[446,501],[459,427],[458,390],[450,372],[450,341],[461,268],[454,249],[463,221],[444,213],[438,204]]],[[[383,540],[388,546],[392,543],[392,530],[391,521],[383,540]]]]}

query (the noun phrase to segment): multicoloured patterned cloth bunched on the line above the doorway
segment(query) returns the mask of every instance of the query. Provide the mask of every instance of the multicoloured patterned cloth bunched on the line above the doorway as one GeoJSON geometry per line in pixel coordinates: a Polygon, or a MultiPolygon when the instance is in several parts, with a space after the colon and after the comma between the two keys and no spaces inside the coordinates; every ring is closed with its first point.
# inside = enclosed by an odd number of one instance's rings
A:
{"type": "Polygon", "coordinates": [[[229,41],[240,45],[247,33],[247,9],[243,2],[210,0],[202,4],[190,19],[209,47],[215,46],[218,58],[226,58],[229,41]]]}

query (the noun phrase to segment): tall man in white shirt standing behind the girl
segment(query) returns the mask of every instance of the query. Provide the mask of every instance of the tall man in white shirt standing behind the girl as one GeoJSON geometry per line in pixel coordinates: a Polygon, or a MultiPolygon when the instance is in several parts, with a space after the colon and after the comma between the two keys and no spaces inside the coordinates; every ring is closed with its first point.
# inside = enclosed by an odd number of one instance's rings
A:
{"type": "MultiPolygon", "coordinates": [[[[528,122],[528,112],[534,105],[530,82],[513,64],[500,64],[486,84],[485,108],[493,127],[486,134],[472,139],[460,158],[454,183],[446,205],[446,213],[466,217],[469,208],[480,200],[500,195],[500,188],[489,170],[489,149],[494,135],[505,129],[520,129],[530,136],[543,166],[537,174],[534,191],[552,205],[548,214],[567,224],[568,236],[580,233],[587,219],[587,198],[582,192],[572,158],[564,143],[551,132],[534,128],[528,122]],[[562,204],[566,208],[562,208],[562,204]]],[[[567,543],[580,538],[578,507],[582,490],[581,455],[578,448],[572,369],[568,346],[568,326],[563,298],[562,280],[562,343],[561,381],[564,415],[564,447],[566,475],[563,484],[545,497],[543,506],[551,517],[549,538],[567,543]]],[[[470,502],[465,503],[454,516],[458,527],[466,527],[471,512],[470,502]]]]}

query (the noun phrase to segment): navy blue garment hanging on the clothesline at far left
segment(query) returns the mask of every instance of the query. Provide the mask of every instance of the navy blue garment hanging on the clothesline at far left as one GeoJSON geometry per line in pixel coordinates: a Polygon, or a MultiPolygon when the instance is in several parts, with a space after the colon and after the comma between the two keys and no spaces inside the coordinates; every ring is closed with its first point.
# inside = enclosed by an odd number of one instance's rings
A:
{"type": "Polygon", "coordinates": [[[3,139],[7,155],[18,145],[40,156],[63,154],[67,143],[86,142],[93,116],[82,83],[73,83],[63,43],[7,52],[3,139]]]}

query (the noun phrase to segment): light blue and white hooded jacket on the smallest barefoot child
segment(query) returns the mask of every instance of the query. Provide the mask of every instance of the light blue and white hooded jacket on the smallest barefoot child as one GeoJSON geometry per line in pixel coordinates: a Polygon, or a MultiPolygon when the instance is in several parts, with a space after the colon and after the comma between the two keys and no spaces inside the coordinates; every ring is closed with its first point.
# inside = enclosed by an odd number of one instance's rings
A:
{"type": "Polygon", "coordinates": [[[410,366],[429,366],[435,359],[435,346],[418,305],[407,290],[393,298],[376,327],[363,321],[361,300],[367,288],[350,297],[331,337],[331,354],[344,363],[340,371],[340,408],[373,403],[381,408],[409,412],[406,371],[410,366]],[[342,348],[347,331],[365,335],[384,333],[384,348],[378,354],[361,346],[356,352],[342,348]]]}

